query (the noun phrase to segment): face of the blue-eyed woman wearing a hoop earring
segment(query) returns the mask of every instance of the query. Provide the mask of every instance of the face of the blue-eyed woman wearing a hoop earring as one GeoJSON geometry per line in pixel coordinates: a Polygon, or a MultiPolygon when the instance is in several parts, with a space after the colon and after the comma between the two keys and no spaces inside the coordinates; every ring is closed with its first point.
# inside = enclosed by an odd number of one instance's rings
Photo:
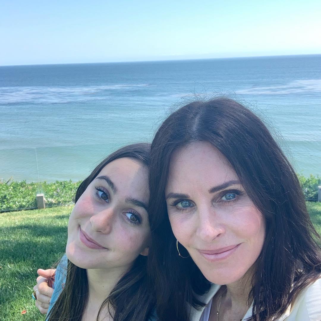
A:
{"type": "Polygon", "coordinates": [[[265,220],[210,143],[195,142],[174,152],[166,201],[175,237],[207,280],[235,282],[255,263],[265,220]]]}

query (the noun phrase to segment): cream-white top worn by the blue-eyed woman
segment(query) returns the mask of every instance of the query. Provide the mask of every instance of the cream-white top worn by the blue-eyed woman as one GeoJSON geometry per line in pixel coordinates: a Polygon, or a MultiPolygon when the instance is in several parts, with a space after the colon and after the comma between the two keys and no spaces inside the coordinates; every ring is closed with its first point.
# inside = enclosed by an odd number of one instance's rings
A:
{"type": "MultiPolygon", "coordinates": [[[[212,299],[220,287],[221,285],[212,284],[210,290],[200,298],[206,306],[201,311],[192,308],[191,321],[209,320],[212,299]]],[[[242,321],[251,317],[252,308],[253,306],[247,310],[242,321]]],[[[321,279],[302,290],[277,321],[321,321],[321,279]]]]}

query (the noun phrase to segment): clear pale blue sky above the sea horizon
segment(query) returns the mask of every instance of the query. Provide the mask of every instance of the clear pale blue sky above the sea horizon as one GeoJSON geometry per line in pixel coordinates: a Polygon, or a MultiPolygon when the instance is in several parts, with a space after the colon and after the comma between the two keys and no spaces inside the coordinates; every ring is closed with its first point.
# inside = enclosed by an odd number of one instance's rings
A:
{"type": "Polygon", "coordinates": [[[0,65],[321,53],[321,1],[3,1],[0,65]]]}

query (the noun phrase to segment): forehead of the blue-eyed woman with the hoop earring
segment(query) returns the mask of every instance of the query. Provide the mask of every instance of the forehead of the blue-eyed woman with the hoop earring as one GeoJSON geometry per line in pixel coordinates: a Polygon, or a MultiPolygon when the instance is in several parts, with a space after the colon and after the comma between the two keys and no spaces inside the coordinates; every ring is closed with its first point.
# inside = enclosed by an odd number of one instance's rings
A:
{"type": "Polygon", "coordinates": [[[183,183],[212,188],[237,179],[229,161],[211,143],[193,142],[173,153],[167,189],[183,183]]]}

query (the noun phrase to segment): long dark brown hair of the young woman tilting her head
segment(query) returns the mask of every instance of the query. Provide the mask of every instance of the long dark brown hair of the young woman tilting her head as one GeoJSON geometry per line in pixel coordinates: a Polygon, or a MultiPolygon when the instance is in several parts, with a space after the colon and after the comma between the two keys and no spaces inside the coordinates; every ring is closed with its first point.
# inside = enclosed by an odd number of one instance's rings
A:
{"type": "MultiPolygon", "coordinates": [[[[108,163],[123,157],[130,157],[148,166],[150,144],[128,145],[102,160],[78,187],[75,201],[77,202],[88,185],[108,163]]],[[[81,321],[87,302],[88,279],[86,269],[82,269],[68,260],[65,287],[50,310],[47,320],[81,321]]],[[[101,305],[97,321],[106,307],[108,307],[109,314],[114,321],[146,320],[152,314],[154,306],[155,296],[147,278],[147,258],[139,255],[132,268],[118,281],[108,298],[101,305]]]]}

